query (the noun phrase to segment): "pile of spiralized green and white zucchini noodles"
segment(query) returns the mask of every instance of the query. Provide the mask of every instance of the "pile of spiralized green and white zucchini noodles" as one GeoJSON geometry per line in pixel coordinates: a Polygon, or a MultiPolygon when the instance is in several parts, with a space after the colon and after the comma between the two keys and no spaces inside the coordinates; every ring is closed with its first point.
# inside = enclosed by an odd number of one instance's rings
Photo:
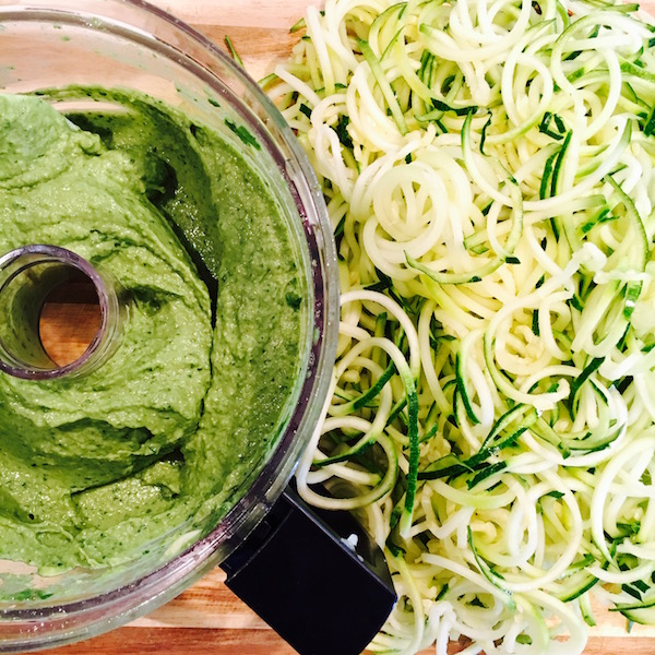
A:
{"type": "Polygon", "coordinates": [[[401,600],[373,651],[581,653],[591,595],[655,622],[655,38],[635,10],[327,0],[262,81],[338,247],[333,394],[297,479],[385,548],[401,600]]]}

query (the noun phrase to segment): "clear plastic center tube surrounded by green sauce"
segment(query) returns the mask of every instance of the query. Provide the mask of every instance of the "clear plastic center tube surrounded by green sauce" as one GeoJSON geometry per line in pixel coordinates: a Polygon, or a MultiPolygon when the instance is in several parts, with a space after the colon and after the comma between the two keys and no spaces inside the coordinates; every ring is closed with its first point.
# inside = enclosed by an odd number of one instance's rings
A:
{"type": "Polygon", "coordinates": [[[96,370],[116,352],[122,335],[124,310],[117,290],[111,275],[66,248],[23,246],[0,257],[0,371],[50,380],[96,370]],[[66,291],[73,288],[70,283],[81,281],[95,289],[99,327],[78,359],[60,366],[41,343],[40,315],[55,289],[66,291]]]}

